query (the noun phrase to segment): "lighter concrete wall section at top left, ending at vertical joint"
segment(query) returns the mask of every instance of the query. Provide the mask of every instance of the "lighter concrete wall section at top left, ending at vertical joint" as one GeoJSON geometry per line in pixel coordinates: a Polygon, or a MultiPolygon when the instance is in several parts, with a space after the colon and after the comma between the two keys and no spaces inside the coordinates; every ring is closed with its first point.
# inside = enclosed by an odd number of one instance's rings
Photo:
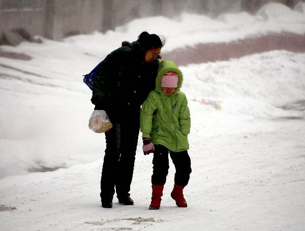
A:
{"type": "Polygon", "coordinates": [[[101,31],[103,28],[103,12],[106,11],[104,0],[32,1],[39,3],[40,7],[18,8],[16,2],[5,8],[5,1],[0,0],[0,44],[18,44],[22,38],[18,38],[20,33],[15,30],[20,28],[29,36],[40,35],[54,40],[101,31]]]}

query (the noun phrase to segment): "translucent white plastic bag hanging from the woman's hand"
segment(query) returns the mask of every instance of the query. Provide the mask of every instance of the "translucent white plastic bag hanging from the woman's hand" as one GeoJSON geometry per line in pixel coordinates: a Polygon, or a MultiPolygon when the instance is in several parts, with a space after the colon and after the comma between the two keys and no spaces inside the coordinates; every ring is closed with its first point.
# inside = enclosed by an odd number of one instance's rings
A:
{"type": "Polygon", "coordinates": [[[89,119],[89,129],[96,133],[109,131],[112,124],[104,110],[94,110],[89,119]]]}

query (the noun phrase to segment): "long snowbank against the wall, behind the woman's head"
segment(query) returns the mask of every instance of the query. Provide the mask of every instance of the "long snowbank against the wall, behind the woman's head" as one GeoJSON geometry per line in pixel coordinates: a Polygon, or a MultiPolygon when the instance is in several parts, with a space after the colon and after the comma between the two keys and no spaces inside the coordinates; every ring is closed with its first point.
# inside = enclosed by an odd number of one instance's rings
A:
{"type": "Polygon", "coordinates": [[[80,35],[65,41],[85,48],[88,53],[100,54],[104,51],[102,55],[107,55],[109,49],[115,49],[124,39],[133,41],[142,31],[164,35],[169,41],[163,48],[164,52],[197,43],[230,42],[267,33],[290,32],[302,35],[305,33],[305,16],[300,9],[304,9],[304,6],[305,3],[299,3],[295,9],[290,9],[279,3],[269,3],[256,15],[239,12],[223,14],[216,19],[188,13],[175,19],[162,16],[141,18],[108,31],[103,36],[95,33],[95,38],[80,35]],[[99,51],[93,50],[97,47],[99,51]],[[102,50],[103,47],[107,49],[102,50]]]}

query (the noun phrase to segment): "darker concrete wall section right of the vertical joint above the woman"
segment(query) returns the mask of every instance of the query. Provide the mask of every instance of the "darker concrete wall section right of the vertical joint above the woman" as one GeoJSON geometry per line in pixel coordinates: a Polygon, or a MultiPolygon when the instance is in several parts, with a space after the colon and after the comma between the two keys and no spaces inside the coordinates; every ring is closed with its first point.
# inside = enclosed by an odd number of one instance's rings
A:
{"type": "Polygon", "coordinates": [[[268,2],[280,2],[289,7],[304,0],[105,0],[107,15],[103,31],[125,24],[134,18],[149,16],[174,17],[192,12],[216,17],[221,13],[241,10],[255,13],[268,2]]]}

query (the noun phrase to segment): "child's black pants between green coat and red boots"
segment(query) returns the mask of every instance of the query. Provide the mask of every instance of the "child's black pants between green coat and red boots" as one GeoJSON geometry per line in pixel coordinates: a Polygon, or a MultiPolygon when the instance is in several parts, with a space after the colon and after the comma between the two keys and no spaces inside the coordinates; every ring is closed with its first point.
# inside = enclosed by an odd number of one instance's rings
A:
{"type": "Polygon", "coordinates": [[[151,183],[155,185],[165,184],[169,169],[168,153],[176,168],[175,184],[186,186],[192,172],[188,151],[172,152],[162,145],[155,145],[151,183]]]}

